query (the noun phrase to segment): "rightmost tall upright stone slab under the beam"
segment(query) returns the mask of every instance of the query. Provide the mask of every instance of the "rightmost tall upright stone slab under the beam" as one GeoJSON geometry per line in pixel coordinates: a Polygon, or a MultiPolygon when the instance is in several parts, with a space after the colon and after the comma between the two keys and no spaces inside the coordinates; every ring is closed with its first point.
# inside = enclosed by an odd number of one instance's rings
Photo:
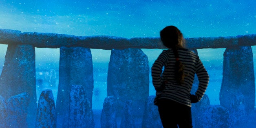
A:
{"type": "Polygon", "coordinates": [[[227,48],[224,52],[220,103],[231,110],[231,97],[242,93],[247,113],[254,111],[255,84],[251,46],[227,48]]]}

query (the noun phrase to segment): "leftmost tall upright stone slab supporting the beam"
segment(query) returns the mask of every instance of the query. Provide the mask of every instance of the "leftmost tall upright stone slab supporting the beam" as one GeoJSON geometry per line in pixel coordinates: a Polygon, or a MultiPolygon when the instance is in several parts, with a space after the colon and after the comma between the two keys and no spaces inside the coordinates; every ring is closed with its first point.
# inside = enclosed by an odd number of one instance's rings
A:
{"type": "Polygon", "coordinates": [[[5,99],[27,92],[29,95],[29,127],[35,126],[35,48],[31,45],[8,45],[4,67],[0,76],[0,95],[5,99]]]}

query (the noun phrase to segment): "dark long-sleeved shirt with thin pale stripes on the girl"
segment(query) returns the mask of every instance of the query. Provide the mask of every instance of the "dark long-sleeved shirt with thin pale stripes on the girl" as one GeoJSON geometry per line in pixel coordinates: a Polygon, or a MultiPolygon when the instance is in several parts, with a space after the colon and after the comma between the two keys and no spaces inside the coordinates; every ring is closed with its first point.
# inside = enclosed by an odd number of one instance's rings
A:
{"type": "Polygon", "coordinates": [[[199,86],[195,93],[197,102],[201,100],[206,91],[209,75],[199,56],[183,48],[178,48],[178,54],[179,60],[185,66],[183,84],[179,85],[175,80],[176,58],[172,49],[163,50],[151,68],[152,82],[155,90],[157,90],[154,104],[157,104],[157,99],[166,98],[191,107],[190,90],[195,74],[199,79],[199,86]],[[162,84],[163,82],[165,85],[162,84]]]}

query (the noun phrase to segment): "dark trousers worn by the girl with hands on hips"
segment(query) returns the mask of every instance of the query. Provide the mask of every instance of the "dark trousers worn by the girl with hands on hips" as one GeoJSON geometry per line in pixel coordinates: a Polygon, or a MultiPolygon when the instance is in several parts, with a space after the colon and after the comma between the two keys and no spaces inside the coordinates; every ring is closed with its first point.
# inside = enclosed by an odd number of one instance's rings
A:
{"type": "Polygon", "coordinates": [[[192,128],[191,107],[170,99],[158,99],[157,106],[163,128],[192,128]]]}

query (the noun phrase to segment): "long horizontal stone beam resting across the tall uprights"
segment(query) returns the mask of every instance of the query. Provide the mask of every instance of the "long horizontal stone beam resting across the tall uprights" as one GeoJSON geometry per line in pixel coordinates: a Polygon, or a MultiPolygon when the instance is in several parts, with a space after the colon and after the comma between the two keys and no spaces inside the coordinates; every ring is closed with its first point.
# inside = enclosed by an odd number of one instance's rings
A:
{"type": "MultiPolygon", "coordinates": [[[[233,37],[185,38],[189,49],[227,48],[256,45],[256,34],[233,37]]],[[[90,49],[166,49],[160,38],[121,38],[113,36],[75,36],[57,33],[35,33],[0,29],[0,44],[31,44],[38,48],[81,46],[90,49]]]]}

